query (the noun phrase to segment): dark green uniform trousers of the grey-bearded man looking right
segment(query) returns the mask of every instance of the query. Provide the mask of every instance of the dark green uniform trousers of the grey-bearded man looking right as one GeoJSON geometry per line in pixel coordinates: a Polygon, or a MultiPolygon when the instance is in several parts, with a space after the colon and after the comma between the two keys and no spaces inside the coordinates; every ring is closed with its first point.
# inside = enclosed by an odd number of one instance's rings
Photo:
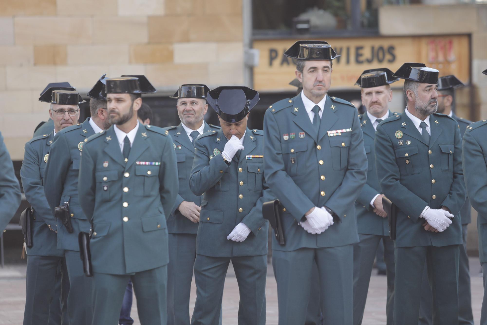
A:
{"type": "Polygon", "coordinates": [[[459,245],[396,247],[394,325],[417,324],[426,264],[434,325],[458,325],[459,245]]]}

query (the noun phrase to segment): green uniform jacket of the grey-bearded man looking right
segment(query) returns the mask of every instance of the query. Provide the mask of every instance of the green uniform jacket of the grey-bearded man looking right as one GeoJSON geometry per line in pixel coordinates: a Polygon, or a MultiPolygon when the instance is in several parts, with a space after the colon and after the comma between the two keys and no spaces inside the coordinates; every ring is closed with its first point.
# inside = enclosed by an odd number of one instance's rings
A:
{"type": "Polygon", "coordinates": [[[375,132],[380,187],[400,209],[395,247],[462,244],[459,211],[465,202],[465,184],[460,129],[444,114],[433,113],[429,119],[429,145],[405,112],[382,121],[375,132]],[[425,220],[419,216],[427,205],[446,206],[455,216],[445,231],[424,230],[425,220]]]}

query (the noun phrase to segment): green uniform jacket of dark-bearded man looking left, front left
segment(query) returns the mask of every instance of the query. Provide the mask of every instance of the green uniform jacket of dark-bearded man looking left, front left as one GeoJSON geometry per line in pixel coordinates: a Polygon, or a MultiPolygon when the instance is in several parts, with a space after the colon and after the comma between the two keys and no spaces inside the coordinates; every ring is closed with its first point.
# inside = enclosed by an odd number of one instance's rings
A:
{"type": "Polygon", "coordinates": [[[170,215],[178,193],[172,139],[139,124],[125,163],[113,126],[83,145],[78,192],[93,224],[93,271],[130,274],[168,264],[170,215]]]}

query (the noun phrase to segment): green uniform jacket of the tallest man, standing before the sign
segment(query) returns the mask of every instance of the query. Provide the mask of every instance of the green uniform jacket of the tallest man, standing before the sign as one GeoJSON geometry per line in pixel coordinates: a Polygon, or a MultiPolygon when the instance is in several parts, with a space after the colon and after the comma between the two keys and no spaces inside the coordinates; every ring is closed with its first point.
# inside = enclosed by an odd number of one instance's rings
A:
{"type": "Polygon", "coordinates": [[[291,251],[358,242],[355,201],[366,182],[367,156],[356,108],[327,96],[317,134],[299,94],[267,109],[264,134],[265,179],[286,209],[286,244],[280,245],[274,238],[272,249],[291,251]],[[331,132],[337,130],[342,131],[331,132]],[[306,232],[298,222],[312,207],[324,205],[340,222],[319,235],[306,232]]]}

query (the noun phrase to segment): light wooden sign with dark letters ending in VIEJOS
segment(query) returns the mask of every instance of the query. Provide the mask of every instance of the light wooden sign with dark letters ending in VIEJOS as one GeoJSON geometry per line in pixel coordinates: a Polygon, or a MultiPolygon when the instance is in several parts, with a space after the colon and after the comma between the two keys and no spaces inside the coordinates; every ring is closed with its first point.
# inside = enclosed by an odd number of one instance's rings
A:
{"type": "MultiPolygon", "coordinates": [[[[295,41],[254,41],[259,49],[259,66],[254,68],[254,88],[258,91],[293,91],[288,83],[296,78],[296,61],[283,55],[295,41]]],[[[468,35],[340,38],[326,40],[337,54],[333,61],[330,89],[358,89],[354,83],[366,69],[396,71],[405,62],[425,63],[440,70],[440,77],[455,75],[470,82],[470,43],[468,35]]],[[[401,87],[403,81],[392,84],[401,87]]]]}

